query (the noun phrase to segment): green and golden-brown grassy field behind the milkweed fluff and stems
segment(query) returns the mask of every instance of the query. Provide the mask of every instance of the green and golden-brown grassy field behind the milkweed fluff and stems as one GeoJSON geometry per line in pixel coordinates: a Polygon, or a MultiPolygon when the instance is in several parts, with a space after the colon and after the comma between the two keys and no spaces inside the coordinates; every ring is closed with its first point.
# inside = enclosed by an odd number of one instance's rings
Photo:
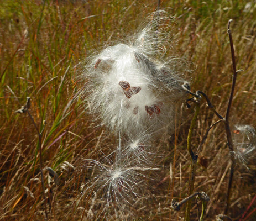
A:
{"type": "MultiPolygon", "coordinates": [[[[93,50],[131,34],[156,6],[157,1],[136,0],[0,1],[0,220],[44,219],[38,135],[28,114],[15,113],[25,104],[26,97],[31,98],[30,113],[40,131],[46,121],[42,133],[43,167],[51,167],[60,179],[56,186],[44,170],[49,218],[81,220],[83,209],[72,206],[79,188],[69,185],[72,179],[80,177],[75,174],[82,159],[98,159],[99,151],[108,154],[116,143],[106,128],[96,127],[84,99],[71,102],[81,88],[77,67],[93,50]]],[[[255,127],[255,1],[163,1],[161,8],[175,17],[171,31],[177,56],[197,66],[191,90],[208,94],[221,114],[226,110],[231,90],[227,22],[233,19],[237,69],[244,71],[237,79],[231,124],[255,127]]],[[[145,191],[148,200],[142,209],[134,211],[134,220],[184,217],[184,210],[174,212],[170,202],[172,198],[180,201],[186,197],[190,171],[186,136],[192,113],[193,109],[182,109],[175,133],[164,134],[158,142],[157,148],[165,156],[158,162],[163,170],[158,174],[159,181],[150,183],[145,191]]],[[[192,138],[194,148],[216,120],[202,103],[192,138]]],[[[210,196],[205,220],[215,220],[224,211],[229,174],[226,143],[224,127],[218,124],[200,155],[208,165],[198,165],[195,191],[205,191],[210,196]]],[[[248,162],[249,170],[236,167],[229,212],[233,220],[256,220],[255,165],[253,159],[248,162]]],[[[83,201],[81,207],[87,202],[83,201]]],[[[192,206],[191,217],[196,220],[195,201],[192,206]]],[[[102,208],[94,209],[95,215],[88,220],[105,220],[102,208]]]]}

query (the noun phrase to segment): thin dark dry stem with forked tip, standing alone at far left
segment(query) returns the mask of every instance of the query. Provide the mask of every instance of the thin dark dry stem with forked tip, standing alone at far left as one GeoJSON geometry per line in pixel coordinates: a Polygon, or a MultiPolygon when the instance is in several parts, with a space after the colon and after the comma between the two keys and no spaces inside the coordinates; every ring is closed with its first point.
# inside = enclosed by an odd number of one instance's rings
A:
{"type": "MultiPolygon", "coordinates": [[[[30,119],[32,120],[32,123],[35,127],[35,130],[38,134],[38,142],[39,142],[39,159],[40,159],[40,173],[41,173],[41,185],[42,185],[42,191],[43,191],[43,197],[44,197],[44,207],[45,207],[45,217],[46,220],[48,220],[48,213],[47,213],[47,206],[46,206],[46,197],[45,197],[45,188],[44,188],[44,176],[43,176],[43,157],[42,157],[42,150],[41,150],[41,133],[39,132],[38,127],[36,126],[36,123],[32,117],[32,115],[29,112],[29,107],[30,107],[30,97],[27,97],[27,102],[25,104],[25,106],[22,106],[22,108],[20,108],[18,111],[16,111],[17,113],[25,113],[27,112],[30,119]]],[[[45,124],[44,124],[45,126],[45,124]]],[[[44,129],[44,128],[43,128],[44,129]]],[[[43,130],[41,131],[43,132],[43,130]]]]}

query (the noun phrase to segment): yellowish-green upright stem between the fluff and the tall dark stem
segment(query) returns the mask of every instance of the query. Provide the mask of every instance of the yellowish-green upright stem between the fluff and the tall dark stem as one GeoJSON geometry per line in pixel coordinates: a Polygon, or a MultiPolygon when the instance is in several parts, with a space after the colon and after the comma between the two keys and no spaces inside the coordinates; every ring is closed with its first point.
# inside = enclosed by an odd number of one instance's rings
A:
{"type": "MultiPolygon", "coordinates": [[[[191,160],[189,190],[188,190],[188,193],[187,193],[188,196],[190,196],[194,191],[197,155],[194,155],[194,152],[192,151],[191,138],[192,138],[193,130],[194,130],[195,125],[196,125],[196,119],[197,119],[199,111],[200,111],[200,103],[196,103],[196,111],[195,111],[194,117],[192,119],[190,128],[189,128],[189,134],[187,135],[187,151],[189,151],[190,160],[191,160]]],[[[190,220],[190,210],[191,210],[191,200],[187,201],[187,203],[186,203],[185,221],[190,220]]]]}

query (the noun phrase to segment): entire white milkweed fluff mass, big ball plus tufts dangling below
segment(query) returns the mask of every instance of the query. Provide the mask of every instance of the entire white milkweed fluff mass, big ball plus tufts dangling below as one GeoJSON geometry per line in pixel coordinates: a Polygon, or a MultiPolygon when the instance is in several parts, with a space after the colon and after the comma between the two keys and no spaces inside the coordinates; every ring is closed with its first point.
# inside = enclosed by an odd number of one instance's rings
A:
{"type": "Polygon", "coordinates": [[[91,56],[81,76],[89,109],[119,135],[116,151],[105,162],[83,162],[90,177],[82,194],[90,197],[95,191],[116,214],[117,208],[139,201],[147,171],[155,170],[152,141],[171,126],[175,104],[186,99],[181,87],[188,83],[186,62],[163,59],[171,51],[172,20],[164,14],[151,14],[130,38],[91,56]]]}

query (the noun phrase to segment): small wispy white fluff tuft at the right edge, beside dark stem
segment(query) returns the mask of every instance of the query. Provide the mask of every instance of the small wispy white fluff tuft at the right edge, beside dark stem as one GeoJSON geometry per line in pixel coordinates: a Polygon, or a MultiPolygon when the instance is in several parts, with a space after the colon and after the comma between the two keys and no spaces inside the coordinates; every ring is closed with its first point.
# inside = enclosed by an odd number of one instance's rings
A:
{"type": "Polygon", "coordinates": [[[234,134],[234,152],[244,166],[256,155],[256,131],[250,125],[236,125],[234,134]]]}

